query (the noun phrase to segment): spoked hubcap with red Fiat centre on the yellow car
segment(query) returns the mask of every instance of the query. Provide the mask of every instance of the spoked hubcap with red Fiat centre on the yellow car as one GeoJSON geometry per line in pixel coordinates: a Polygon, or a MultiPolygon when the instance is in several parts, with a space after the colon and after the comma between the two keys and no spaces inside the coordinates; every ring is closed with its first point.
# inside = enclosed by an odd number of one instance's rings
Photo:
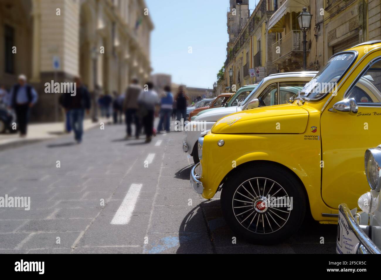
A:
{"type": "Polygon", "coordinates": [[[235,190],[232,207],[235,218],[245,229],[271,234],[288,221],[292,199],[274,180],[256,177],[246,180],[235,190]]]}

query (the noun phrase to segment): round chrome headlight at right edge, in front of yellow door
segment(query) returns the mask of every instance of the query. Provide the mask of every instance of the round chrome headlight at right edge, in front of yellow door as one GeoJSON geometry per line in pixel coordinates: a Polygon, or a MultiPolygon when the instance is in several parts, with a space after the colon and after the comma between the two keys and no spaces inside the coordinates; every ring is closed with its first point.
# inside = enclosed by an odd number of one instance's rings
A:
{"type": "Polygon", "coordinates": [[[370,188],[379,191],[381,187],[381,145],[365,152],[365,174],[370,188]]]}

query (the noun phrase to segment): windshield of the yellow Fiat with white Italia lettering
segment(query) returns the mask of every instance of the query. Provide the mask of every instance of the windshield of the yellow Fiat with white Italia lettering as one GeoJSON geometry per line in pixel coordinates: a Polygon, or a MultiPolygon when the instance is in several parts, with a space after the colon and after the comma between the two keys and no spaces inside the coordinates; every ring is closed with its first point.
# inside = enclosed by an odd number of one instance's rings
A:
{"type": "Polygon", "coordinates": [[[300,96],[318,100],[327,93],[336,91],[339,80],[354,60],[354,53],[339,53],[332,56],[324,68],[304,86],[300,96]]]}

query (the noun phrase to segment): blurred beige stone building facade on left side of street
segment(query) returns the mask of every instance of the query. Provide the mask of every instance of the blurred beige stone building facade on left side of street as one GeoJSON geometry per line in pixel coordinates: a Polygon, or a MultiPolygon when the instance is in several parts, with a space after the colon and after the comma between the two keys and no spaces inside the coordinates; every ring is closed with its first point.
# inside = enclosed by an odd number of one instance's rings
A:
{"type": "Polygon", "coordinates": [[[45,83],[80,75],[93,100],[123,93],[131,77],[150,76],[153,28],[144,0],[2,0],[0,84],[27,75],[39,95],[32,120],[61,120],[59,94],[45,93],[45,83]]]}

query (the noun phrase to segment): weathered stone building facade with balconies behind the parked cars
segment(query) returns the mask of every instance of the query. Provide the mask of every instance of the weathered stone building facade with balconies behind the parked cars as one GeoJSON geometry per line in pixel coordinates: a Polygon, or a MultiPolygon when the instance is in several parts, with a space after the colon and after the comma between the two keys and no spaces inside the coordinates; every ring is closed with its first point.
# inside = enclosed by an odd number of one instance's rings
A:
{"type": "Polygon", "coordinates": [[[248,69],[264,67],[266,75],[303,70],[303,33],[298,15],[312,14],[307,31],[307,70],[320,70],[332,54],[358,43],[381,40],[380,0],[275,0],[258,2],[227,53],[218,91],[255,83],[248,69]],[[279,47],[279,48],[277,48],[279,47]],[[232,82],[228,71],[233,70],[232,82]]]}

